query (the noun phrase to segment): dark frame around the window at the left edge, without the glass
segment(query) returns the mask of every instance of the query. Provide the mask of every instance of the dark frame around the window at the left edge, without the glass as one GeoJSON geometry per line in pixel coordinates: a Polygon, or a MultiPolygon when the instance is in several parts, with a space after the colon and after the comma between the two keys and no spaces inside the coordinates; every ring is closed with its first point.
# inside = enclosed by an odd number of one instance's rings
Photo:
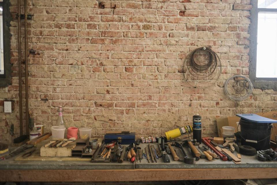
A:
{"type": "Polygon", "coordinates": [[[3,0],[0,2],[0,6],[3,8],[3,59],[4,59],[4,74],[0,74],[0,87],[6,87],[11,84],[11,34],[10,34],[10,22],[12,16],[10,13],[10,2],[3,0]]]}

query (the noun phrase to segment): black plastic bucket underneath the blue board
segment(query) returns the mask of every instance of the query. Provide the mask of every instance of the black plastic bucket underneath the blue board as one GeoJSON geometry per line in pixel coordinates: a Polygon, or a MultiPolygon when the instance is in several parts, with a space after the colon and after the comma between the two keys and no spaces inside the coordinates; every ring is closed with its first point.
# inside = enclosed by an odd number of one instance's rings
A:
{"type": "Polygon", "coordinates": [[[256,123],[241,118],[239,124],[242,145],[254,147],[256,150],[266,150],[270,148],[272,123],[256,123]],[[247,142],[246,140],[257,141],[257,143],[247,142]]]}

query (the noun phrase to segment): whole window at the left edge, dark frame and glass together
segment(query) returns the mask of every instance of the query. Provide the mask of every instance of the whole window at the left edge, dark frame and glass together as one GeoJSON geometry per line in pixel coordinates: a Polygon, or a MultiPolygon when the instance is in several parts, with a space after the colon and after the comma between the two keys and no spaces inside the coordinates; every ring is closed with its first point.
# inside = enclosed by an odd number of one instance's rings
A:
{"type": "Polygon", "coordinates": [[[0,0],[0,87],[10,84],[10,7],[8,0],[0,0]]]}

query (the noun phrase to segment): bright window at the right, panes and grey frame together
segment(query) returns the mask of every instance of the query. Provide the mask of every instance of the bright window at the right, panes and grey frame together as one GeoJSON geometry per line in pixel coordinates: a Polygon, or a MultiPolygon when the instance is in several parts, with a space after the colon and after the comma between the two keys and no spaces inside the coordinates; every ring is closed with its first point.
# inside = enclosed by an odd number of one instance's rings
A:
{"type": "Polygon", "coordinates": [[[277,0],[253,1],[250,79],[257,88],[277,88],[277,0]]]}

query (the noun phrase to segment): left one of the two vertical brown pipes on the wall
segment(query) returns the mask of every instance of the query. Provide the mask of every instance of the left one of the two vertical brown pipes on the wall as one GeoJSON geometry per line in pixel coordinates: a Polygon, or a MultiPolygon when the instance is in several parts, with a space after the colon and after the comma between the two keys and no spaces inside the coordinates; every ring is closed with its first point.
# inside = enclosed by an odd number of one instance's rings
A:
{"type": "Polygon", "coordinates": [[[19,84],[19,127],[20,136],[23,135],[22,124],[22,79],[21,79],[21,23],[20,23],[20,0],[17,1],[18,6],[18,84],[19,84]]]}

